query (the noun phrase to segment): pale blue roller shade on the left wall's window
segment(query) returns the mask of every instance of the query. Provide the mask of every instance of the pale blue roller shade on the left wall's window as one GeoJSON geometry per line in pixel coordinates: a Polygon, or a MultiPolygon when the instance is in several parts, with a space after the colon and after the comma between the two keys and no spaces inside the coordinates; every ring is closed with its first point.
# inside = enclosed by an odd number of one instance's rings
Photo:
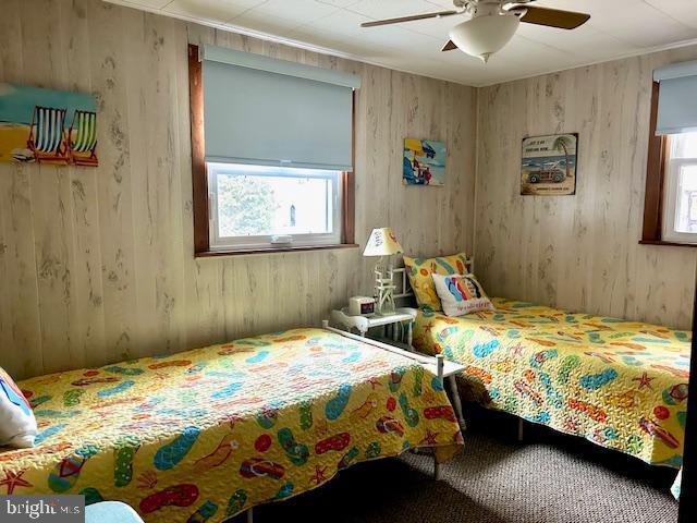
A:
{"type": "Polygon", "coordinates": [[[352,170],[354,75],[206,47],[206,160],[352,170]]]}

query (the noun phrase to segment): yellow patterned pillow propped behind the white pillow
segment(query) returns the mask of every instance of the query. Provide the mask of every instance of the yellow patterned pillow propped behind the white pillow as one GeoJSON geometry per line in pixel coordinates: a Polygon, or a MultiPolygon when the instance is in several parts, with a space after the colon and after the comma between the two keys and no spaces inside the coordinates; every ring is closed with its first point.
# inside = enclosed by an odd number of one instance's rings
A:
{"type": "Polygon", "coordinates": [[[404,256],[404,266],[419,307],[442,311],[431,275],[466,275],[467,255],[460,253],[437,258],[411,258],[404,256]]]}

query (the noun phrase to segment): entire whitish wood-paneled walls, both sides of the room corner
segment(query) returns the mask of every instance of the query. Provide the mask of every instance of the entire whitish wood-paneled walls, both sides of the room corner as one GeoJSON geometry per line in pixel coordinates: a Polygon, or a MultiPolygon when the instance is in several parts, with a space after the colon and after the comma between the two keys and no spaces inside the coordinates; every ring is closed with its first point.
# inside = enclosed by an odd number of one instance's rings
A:
{"type": "Polygon", "coordinates": [[[359,241],[389,224],[411,254],[476,247],[492,295],[689,326],[697,250],[637,242],[651,72],[697,47],[474,89],[99,0],[3,0],[0,81],[99,106],[98,169],[0,165],[0,365],[16,377],[318,325],[370,291],[360,250],[193,257],[188,42],[363,77],[359,241]],[[521,196],[522,137],[553,132],[579,133],[576,195],[521,196]],[[406,136],[447,142],[445,187],[401,185],[406,136]]]}

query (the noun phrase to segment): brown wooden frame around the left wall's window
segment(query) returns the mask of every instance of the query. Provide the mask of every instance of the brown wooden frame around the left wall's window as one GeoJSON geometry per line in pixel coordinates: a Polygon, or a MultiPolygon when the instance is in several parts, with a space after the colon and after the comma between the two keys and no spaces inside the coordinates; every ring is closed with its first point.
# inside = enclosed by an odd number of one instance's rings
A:
{"type": "MultiPolygon", "coordinates": [[[[331,248],[354,248],[355,243],[355,169],[341,174],[341,243],[335,245],[298,245],[284,247],[261,247],[254,250],[210,248],[208,200],[208,171],[204,135],[204,85],[203,68],[198,46],[188,45],[188,92],[192,133],[192,190],[194,214],[194,256],[232,256],[245,254],[288,253],[297,251],[321,251],[331,248]]],[[[355,166],[356,94],[352,104],[352,163],[355,166]]]]}

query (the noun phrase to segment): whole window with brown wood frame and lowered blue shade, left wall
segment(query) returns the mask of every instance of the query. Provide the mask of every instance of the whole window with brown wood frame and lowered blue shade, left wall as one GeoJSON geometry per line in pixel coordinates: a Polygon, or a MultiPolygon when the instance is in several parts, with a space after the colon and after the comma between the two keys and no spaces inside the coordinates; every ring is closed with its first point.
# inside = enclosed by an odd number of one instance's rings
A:
{"type": "Polygon", "coordinates": [[[356,246],[354,74],[188,46],[196,256],[356,246]]]}

